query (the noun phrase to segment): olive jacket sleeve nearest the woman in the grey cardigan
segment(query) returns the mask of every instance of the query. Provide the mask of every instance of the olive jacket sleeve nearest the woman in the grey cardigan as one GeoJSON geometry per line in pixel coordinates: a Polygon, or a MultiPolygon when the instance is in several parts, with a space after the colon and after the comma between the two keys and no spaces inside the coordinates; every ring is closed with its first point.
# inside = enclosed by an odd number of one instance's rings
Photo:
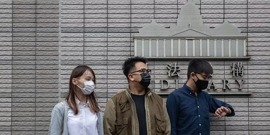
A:
{"type": "Polygon", "coordinates": [[[106,104],[104,116],[103,116],[103,127],[105,135],[115,134],[115,122],[116,122],[116,109],[113,101],[109,99],[106,104]]]}

